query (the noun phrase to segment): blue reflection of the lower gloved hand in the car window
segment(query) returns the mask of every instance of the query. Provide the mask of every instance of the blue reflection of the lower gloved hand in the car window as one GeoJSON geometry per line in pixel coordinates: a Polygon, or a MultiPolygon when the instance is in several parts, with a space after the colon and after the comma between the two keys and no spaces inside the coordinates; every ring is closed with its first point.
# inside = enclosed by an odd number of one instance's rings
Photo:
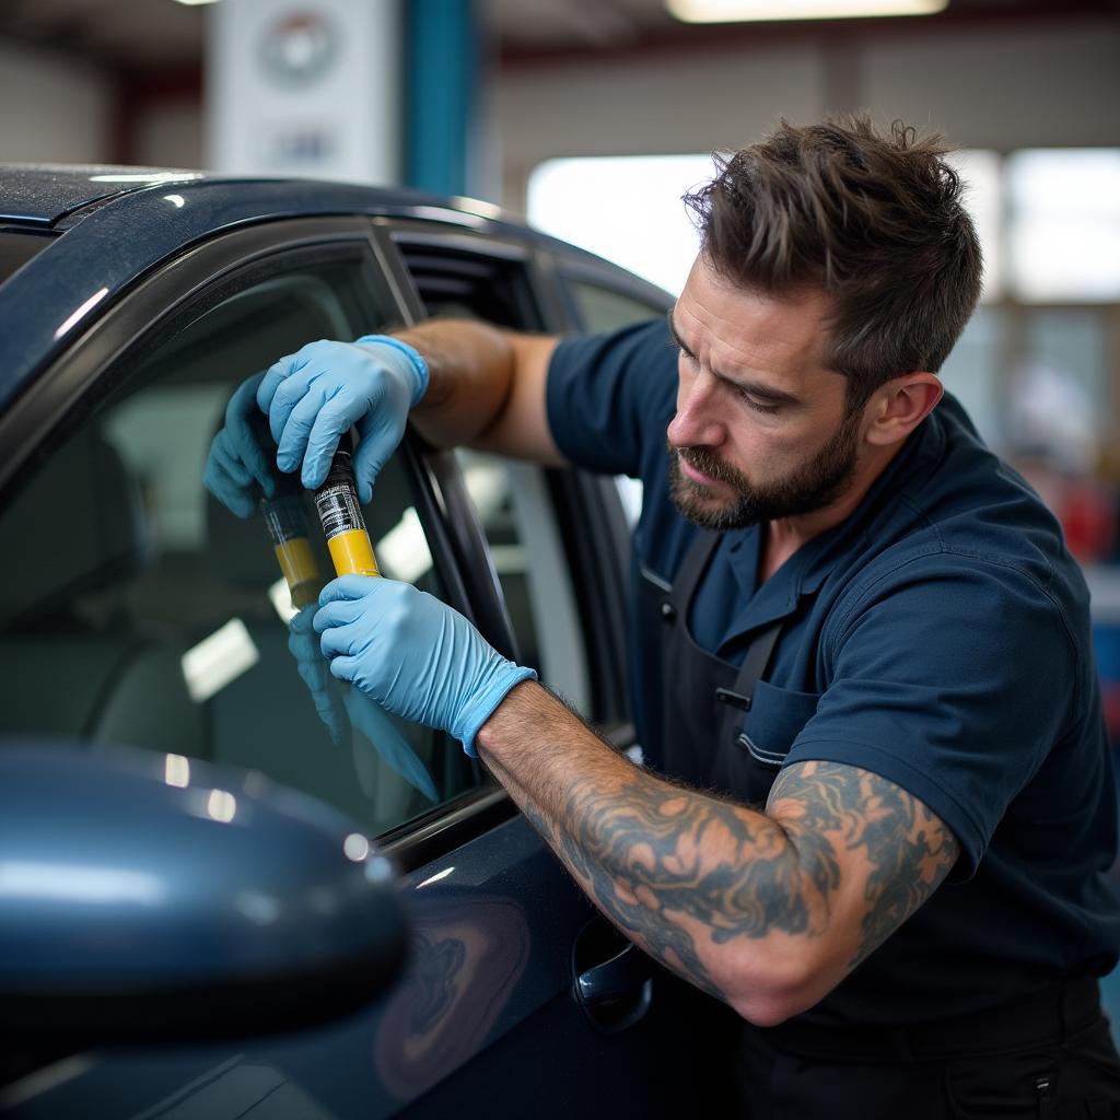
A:
{"type": "Polygon", "coordinates": [[[338,685],[330,676],[327,661],[319,648],[319,637],[311,628],[315,612],[315,607],[304,607],[288,624],[288,650],[296,659],[299,675],[311,693],[315,710],[330,732],[330,738],[338,746],[344,746],[351,738],[353,724],[364,736],[361,740],[354,740],[355,750],[368,750],[372,746],[390,769],[400,774],[432,803],[439,801],[431,775],[389,717],[367,696],[348,685],[339,700],[335,691],[338,685]]]}

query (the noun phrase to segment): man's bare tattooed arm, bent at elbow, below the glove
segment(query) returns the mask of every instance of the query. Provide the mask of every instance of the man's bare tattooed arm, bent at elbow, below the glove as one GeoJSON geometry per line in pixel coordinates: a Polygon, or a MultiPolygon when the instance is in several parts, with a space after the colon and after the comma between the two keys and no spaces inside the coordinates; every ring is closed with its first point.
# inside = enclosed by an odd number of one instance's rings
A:
{"type": "Polygon", "coordinates": [[[530,682],[478,746],[607,917],[759,1025],[823,998],[958,853],[921,801],[868,771],[790,766],[756,812],[632,765],[530,682]]]}

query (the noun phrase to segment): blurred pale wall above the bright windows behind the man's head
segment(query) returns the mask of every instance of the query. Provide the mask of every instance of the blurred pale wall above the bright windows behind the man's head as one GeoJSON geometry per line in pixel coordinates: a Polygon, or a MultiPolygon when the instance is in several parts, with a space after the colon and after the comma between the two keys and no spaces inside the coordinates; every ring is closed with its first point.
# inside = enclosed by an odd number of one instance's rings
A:
{"type": "Polygon", "coordinates": [[[778,116],[830,110],[900,116],[960,147],[1117,146],[1117,59],[1120,28],[1102,20],[511,67],[498,81],[502,202],[520,212],[529,172],[551,156],[738,147],[778,116]]]}

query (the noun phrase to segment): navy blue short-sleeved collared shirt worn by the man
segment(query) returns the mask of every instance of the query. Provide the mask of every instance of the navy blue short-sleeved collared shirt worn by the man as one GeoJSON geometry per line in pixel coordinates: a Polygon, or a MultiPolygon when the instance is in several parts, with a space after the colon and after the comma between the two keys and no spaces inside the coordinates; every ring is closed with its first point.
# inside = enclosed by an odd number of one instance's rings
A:
{"type": "MultiPolygon", "coordinates": [[[[644,484],[632,596],[643,579],[671,585],[699,532],[669,497],[675,393],[663,320],[567,339],[549,371],[564,456],[644,484]]],[[[785,619],[752,737],[785,765],[824,759],[895,782],[961,846],[950,878],[811,1015],[961,1014],[1108,971],[1117,805],[1089,592],[1037,495],[946,394],[857,510],[759,588],[760,543],[757,526],[724,534],[688,619],[732,663],[753,631],[785,619]]],[[[655,739],[672,682],[648,642],[631,669],[640,741],[655,739]]]]}

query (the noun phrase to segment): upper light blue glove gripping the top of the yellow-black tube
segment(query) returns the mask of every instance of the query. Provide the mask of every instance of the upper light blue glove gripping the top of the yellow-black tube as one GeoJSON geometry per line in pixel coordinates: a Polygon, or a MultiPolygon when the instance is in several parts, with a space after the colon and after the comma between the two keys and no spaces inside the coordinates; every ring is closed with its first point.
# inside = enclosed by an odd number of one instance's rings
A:
{"type": "Polygon", "coordinates": [[[256,403],[269,416],[277,465],[315,488],[327,477],[338,440],[357,424],[354,477],[368,502],[373,480],[404,435],[409,409],[428,389],[428,366],[407,343],[363,335],[354,343],[308,343],[272,365],[256,403]]]}

